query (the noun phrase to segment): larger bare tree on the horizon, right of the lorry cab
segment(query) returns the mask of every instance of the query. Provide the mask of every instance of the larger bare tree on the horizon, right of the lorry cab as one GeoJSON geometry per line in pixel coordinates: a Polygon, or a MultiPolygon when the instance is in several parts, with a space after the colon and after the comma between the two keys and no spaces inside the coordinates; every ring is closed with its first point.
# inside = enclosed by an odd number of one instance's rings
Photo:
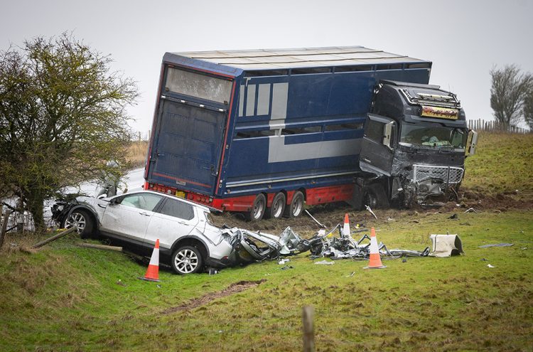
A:
{"type": "Polygon", "coordinates": [[[492,68],[490,76],[490,107],[495,120],[507,129],[522,121],[524,99],[533,78],[529,73],[521,73],[517,65],[506,65],[501,70],[492,68]]]}

